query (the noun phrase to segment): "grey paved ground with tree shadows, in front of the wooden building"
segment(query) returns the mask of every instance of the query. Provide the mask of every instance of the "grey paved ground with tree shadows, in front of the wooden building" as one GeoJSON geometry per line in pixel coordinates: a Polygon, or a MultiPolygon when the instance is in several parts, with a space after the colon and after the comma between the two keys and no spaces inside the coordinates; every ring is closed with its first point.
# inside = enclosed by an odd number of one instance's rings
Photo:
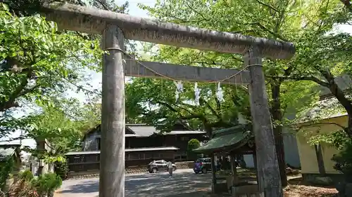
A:
{"type": "MultiPolygon", "coordinates": [[[[174,177],[168,172],[142,175],[126,175],[126,197],[189,197],[208,196],[211,173],[196,175],[193,170],[176,170],[174,177]],[[187,195],[185,196],[185,194],[187,195]]],[[[95,197],[99,195],[99,178],[74,179],[63,182],[54,197],[95,197]]]]}

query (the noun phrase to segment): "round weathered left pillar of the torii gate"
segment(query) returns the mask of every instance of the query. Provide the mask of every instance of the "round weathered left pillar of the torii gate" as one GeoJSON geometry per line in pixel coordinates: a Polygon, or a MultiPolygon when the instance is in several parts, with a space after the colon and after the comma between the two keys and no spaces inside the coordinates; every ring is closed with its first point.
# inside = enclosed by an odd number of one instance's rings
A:
{"type": "Polygon", "coordinates": [[[99,197],[125,197],[125,61],[124,36],[107,25],[101,40],[103,83],[99,197]]]}

